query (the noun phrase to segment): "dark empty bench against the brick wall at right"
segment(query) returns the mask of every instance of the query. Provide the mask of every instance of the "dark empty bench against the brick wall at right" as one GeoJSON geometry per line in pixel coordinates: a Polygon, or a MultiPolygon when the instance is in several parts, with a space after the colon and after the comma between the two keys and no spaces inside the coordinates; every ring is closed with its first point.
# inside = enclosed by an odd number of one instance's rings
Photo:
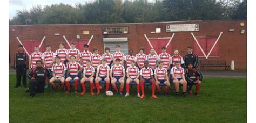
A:
{"type": "Polygon", "coordinates": [[[225,67],[225,70],[228,70],[230,68],[225,60],[201,60],[200,64],[201,69],[204,69],[204,67],[225,67]]]}

